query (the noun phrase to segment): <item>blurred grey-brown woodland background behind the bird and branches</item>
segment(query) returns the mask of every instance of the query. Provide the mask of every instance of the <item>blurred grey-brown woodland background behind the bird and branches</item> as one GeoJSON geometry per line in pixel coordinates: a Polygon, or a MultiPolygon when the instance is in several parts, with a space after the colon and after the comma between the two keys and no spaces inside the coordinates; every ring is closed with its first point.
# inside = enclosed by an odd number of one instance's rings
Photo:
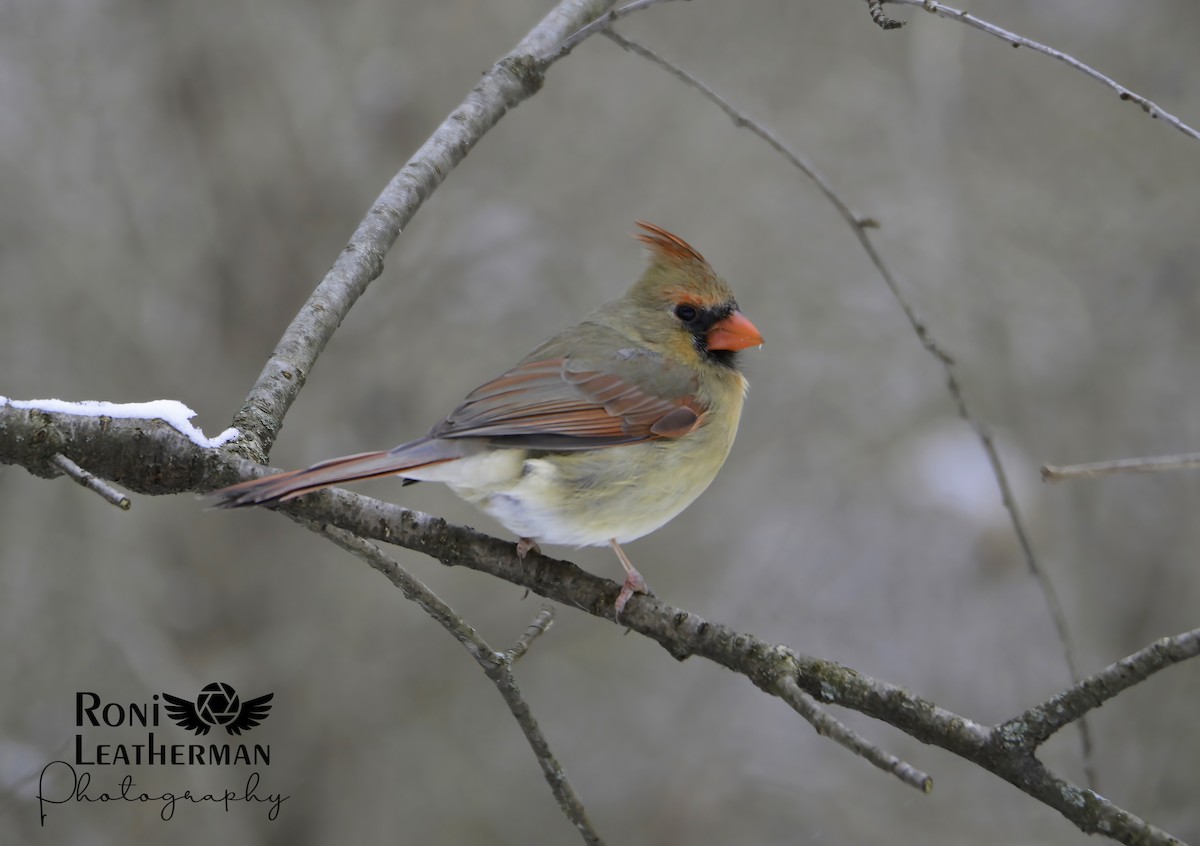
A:
{"type": "MultiPolygon", "coordinates": [[[[178,398],[216,433],[384,182],[551,6],[0,4],[0,394],[178,398]]],[[[976,0],[1200,125],[1190,0],[976,0]]],[[[656,7],[622,24],[810,156],[860,214],[1001,444],[1084,672],[1200,624],[1200,476],[1044,486],[1043,462],[1200,449],[1200,144],[1045,56],[854,0],[656,7]]],[[[986,462],[851,230],[694,91],[593,38],[418,214],[271,461],[419,436],[623,292],[646,218],[767,337],[730,463],[628,547],[666,601],[992,722],[1069,683],[986,462]]],[[[433,485],[360,490],[503,535],[433,485]]],[[[266,512],[0,468],[0,840],[572,844],[474,661],[378,574],[266,512]],[[264,808],[56,805],[74,692],[275,692],[264,808]]],[[[618,578],[607,550],[547,550],[618,578]]],[[[389,550],[497,648],[539,608],[389,550]]],[[[920,796],[746,679],[558,610],[518,679],[613,844],[1084,844],[995,776],[856,714],[920,796]]],[[[1200,664],[1093,713],[1100,791],[1200,840],[1200,664]]],[[[182,742],[181,732],[161,733],[182,742]]],[[[144,732],[126,732],[136,742],[144,732]]],[[[120,730],[90,730],[115,743],[120,730]]],[[[1066,731],[1044,750],[1082,778],[1066,731]]],[[[125,772],[240,790],[246,768],[125,772]]],[[[107,784],[106,784],[107,782],[107,784]]]]}

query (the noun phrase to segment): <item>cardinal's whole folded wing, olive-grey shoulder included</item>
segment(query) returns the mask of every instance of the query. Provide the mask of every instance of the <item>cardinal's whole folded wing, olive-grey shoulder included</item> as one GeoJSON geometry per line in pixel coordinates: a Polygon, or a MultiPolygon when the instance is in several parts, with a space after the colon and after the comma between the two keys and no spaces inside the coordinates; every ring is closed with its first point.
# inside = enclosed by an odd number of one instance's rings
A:
{"type": "Polygon", "coordinates": [[[695,376],[656,353],[530,358],[472,391],[430,436],[580,450],[678,438],[704,413],[695,376]]]}

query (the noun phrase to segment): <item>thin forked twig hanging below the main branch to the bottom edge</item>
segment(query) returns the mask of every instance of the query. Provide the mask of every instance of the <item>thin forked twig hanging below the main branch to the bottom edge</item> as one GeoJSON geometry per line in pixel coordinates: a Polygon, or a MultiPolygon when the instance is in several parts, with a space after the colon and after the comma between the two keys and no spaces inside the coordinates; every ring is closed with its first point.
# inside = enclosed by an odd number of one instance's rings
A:
{"type": "MultiPolygon", "coordinates": [[[[430,617],[436,619],[442,628],[454,635],[455,640],[462,643],[467,652],[470,653],[470,656],[474,658],[479,662],[479,666],[484,668],[484,673],[487,678],[490,678],[497,690],[500,691],[500,696],[509,706],[509,710],[511,710],[512,716],[516,718],[517,725],[520,725],[521,731],[524,732],[526,740],[529,742],[529,746],[533,749],[534,756],[541,766],[541,772],[546,776],[546,781],[550,784],[551,791],[554,793],[554,799],[558,800],[558,806],[563,809],[563,812],[583,836],[584,842],[602,844],[604,841],[600,839],[600,834],[592,826],[592,821],[588,820],[587,809],[583,808],[583,803],[575,793],[575,788],[571,787],[571,782],[566,778],[566,773],[563,772],[562,766],[558,763],[558,760],[550,749],[550,744],[546,742],[546,737],[541,733],[541,728],[538,726],[538,720],[534,719],[533,713],[529,710],[529,704],[524,701],[524,697],[521,696],[521,689],[517,688],[516,678],[512,676],[512,659],[510,659],[508,654],[498,653],[487,646],[487,642],[480,637],[479,632],[475,631],[475,629],[472,628],[462,617],[460,617],[454,608],[439,599],[438,595],[430,590],[430,588],[427,588],[419,578],[409,574],[391,558],[383,554],[374,544],[365,541],[358,535],[354,535],[346,529],[340,529],[336,526],[319,526],[304,518],[299,518],[298,522],[319,532],[347,552],[353,553],[382,572],[392,584],[400,588],[401,593],[403,593],[407,599],[421,606],[421,608],[430,617]]],[[[542,619],[542,614],[545,613],[546,612],[544,611],[538,616],[538,619],[534,620],[535,625],[542,619]]],[[[553,613],[551,613],[548,618],[552,619],[553,613]]],[[[545,624],[540,626],[540,631],[545,631],[546,626],[550,625],[550,619],[545,620],[545,624]]],[[[527,631],[522,640],[524,640],[524,637],[533,641],[535,636],[530,636],[527,631]]],[[[528,646],[529,644],[527,642],[524,648],[527,649],[528,646]]],[[[522,649],[522,652],[524,652],[524,649],[522,649]]]]}

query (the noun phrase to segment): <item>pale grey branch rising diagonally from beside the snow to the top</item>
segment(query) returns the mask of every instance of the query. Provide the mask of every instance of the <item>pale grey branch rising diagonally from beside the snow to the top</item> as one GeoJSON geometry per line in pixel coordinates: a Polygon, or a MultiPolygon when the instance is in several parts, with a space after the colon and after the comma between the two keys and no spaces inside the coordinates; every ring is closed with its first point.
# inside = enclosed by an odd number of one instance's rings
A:
{"type": "Polygon", "coordinates": [[[541,88],[551,59],[539,59],[607,11],[613,0],[563,0],[484,74],[466,100],[388,182],[325,278],[284,330],[238,414],[241,437],[229,449],[265,462],[308,373],[421,204],[499,120],[541,88]]]}

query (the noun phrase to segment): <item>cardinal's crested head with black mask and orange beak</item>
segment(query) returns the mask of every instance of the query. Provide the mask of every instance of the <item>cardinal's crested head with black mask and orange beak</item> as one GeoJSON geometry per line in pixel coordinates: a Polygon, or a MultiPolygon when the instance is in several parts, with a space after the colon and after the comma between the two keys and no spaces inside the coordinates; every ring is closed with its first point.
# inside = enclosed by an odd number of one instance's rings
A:
{"type": "Polygon", "coordinates": [[[626,294],[647,340],[679,358],[734,367],[738,350],[762,344],[762,335],[738,311],[733,292],[704,257],[666,229],[637,221],[634,236],[650,248],[650,264],[626,294]]]}

